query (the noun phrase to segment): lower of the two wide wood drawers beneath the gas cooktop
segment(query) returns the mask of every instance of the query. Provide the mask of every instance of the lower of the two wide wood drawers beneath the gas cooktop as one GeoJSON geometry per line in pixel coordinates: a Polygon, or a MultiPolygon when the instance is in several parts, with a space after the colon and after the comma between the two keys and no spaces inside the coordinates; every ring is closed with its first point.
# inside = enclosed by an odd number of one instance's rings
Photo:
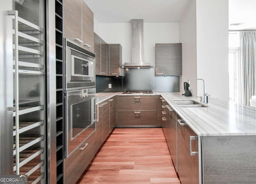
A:
{"type": "Polygon", "coordinates": [[[156,110],[118,111],[119,125],[156,125],[156,110]]]}

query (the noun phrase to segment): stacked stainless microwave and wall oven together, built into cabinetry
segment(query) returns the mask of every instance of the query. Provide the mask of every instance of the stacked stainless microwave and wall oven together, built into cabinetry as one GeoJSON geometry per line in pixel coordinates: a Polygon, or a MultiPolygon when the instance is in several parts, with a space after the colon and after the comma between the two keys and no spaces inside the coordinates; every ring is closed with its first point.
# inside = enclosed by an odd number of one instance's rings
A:
{"type": "Polygon", "coordinates": [[[64,38],[65,152],[83,147],[96,130],[95,54],[64,38]]]}

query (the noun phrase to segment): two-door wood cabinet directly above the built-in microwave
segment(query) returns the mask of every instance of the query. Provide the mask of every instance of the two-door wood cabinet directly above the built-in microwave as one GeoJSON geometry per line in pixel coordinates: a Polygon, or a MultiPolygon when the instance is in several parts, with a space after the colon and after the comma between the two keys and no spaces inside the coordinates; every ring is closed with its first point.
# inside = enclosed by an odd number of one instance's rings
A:
{"type": "Polygon", "coordinates": [[[63,0],[64,38],[94,51],[93,12],[84,0],[63,0]]]}

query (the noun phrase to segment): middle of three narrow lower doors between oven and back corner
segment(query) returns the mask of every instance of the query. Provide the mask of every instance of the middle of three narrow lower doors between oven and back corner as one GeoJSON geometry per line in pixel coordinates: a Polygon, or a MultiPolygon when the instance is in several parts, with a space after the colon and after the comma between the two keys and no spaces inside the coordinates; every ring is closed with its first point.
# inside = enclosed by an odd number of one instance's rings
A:
{"type": "Polygon", "coordinates": [[[103,142],[106,140],[110,133],[110,124],[109,124],[109,101],[106,100],[103,102],[103,117],[102,117],[102,126],[103,126],[103,142]]]}

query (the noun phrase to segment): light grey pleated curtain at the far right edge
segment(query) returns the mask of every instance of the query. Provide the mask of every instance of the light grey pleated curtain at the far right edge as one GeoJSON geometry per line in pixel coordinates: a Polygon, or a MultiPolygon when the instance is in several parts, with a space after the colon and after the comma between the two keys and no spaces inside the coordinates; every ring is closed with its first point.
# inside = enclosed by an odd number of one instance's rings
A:
{"type": "Polygon", "coordinates": [[[242,103],[249,105],[249,99],[256,95],[256,30],[241,31],[241,77],[242,103]]]}

